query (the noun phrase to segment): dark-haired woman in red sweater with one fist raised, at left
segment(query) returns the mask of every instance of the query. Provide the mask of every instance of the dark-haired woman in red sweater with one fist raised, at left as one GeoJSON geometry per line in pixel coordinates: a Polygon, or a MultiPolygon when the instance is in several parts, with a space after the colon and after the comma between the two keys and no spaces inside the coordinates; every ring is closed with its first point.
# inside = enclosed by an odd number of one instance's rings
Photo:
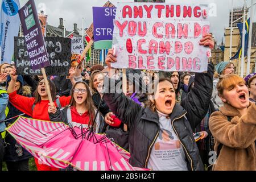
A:
{"type": "MultiPolygon", "coordinates": [[[[22,111],[23,113],[29,115],[34,119],[40,119],[44,121],[49,121],[49,114],[48,114],[48,104],[49,98],[46,91],[46,81],[44,79],[38,82],[36,86],[36,90],[34,93],[35,97],[25,97],[20,96],[17,94],[15,90],[15,84],[17,80],[16,69],[14,68],[10,72],[10,83],[7,92],[9,93],[9,101],[11,104],[16,107],[16,109],[22,111]]],[[[71,97],[60,97],[55,100],[56,96],[56,88],[55,85],[52,83],[51,80],[48,80],[49,89],[51,90],[52,100],[55,106],[59,105],[59,107],[64,107],[69,104],[71,97]]],[[[38,159],[35,158],[36,167],[38,171],[59,171],[58,168],[49,167],[45,164],[39,164],[38,159]]]]}

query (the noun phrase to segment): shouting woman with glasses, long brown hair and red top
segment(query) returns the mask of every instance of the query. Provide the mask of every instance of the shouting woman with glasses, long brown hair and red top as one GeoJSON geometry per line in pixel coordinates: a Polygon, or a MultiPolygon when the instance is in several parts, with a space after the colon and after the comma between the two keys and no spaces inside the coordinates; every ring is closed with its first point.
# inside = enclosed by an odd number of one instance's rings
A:
{"type": "Polygon", "coordinates": [[[92,94],[89,86],[81,81],[76,82],[71,91],[71,101],[67,107],[57,109],[49,105],[48,113],[51,121],[62,121],[66,124],[71,123],[73,127],[82,127],[87,130],[92,127],[96,133],[104,132],[104,118],[100,113],[97,113],[96,107],[93,105],[92,94]]]}

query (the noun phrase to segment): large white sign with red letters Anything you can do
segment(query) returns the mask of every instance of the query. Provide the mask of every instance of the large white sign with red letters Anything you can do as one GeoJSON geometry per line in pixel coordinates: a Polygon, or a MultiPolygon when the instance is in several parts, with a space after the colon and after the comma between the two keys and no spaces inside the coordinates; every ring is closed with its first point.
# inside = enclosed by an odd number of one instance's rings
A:
{"type": "Polygon", "coordinates": [[[114,68],[207,71],[209,48],[200,46],[210,24],[205,6],[118,3],[114,20],[114,68]]]}

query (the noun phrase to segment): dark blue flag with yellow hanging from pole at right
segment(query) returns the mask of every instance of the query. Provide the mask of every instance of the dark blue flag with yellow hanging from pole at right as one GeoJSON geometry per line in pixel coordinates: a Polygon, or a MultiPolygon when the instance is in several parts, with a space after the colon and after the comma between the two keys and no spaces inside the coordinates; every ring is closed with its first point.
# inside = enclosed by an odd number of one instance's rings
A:
{"type": "MultiPolygon", "coordinates": [[[[247,55],[247,51],[248,51],[248,43],[249,43],[249,24],[250,24],[250,18],[246,20],[245,22],[245,55],[247,55]]],[[[234,57],[232,57],[230,60],[233,59],[241,59],[242,57],[242,37],[243,37],[243,23],[237,23],[237,27],[240,31],[240,37],[241,37],[241,46],[238,49],[238,52],[236,53],[236,55],[234,55],[234,57]]]]}

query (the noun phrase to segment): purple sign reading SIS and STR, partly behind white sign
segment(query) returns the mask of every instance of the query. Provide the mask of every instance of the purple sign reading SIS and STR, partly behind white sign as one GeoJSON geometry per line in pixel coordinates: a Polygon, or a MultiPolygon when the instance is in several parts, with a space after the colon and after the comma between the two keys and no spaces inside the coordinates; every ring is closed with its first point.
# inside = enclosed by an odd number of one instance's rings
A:
{"type": "Polygon", "coordinates": [[[112,48],[115,7],[93,7],[94,49],[112,48]]]}

